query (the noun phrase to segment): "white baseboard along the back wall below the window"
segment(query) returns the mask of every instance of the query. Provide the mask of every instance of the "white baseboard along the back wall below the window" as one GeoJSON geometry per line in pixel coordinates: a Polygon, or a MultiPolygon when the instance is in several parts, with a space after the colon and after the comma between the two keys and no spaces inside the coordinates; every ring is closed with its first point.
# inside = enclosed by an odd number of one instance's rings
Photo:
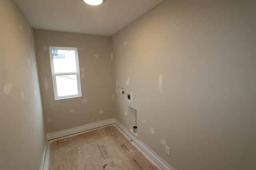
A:
{"type": "Polygon", "coordinates": [[[47,133],[47,139],[52,140],[52,139],[56,139],[56,138],[59,138],[59,137],[64,137],[64,136],[67,136],[67,135],[72,135],[72,134],[80,133],[80,132],[83,132],[83,131],[88,131],[88,130],[95,129],[95,128],[98,128],[98,127],[111,125],[111,124],[114,124],[114,123],[115,123],[115,119],[113,118],[113,119],[107,119],[107,120],[98,121],[98,122],[94,122],[94,123],[89,123],[87,125],[73,127],[71,129],[66,129],[66,130],[63,130],[63,131],[47,133]]]}

